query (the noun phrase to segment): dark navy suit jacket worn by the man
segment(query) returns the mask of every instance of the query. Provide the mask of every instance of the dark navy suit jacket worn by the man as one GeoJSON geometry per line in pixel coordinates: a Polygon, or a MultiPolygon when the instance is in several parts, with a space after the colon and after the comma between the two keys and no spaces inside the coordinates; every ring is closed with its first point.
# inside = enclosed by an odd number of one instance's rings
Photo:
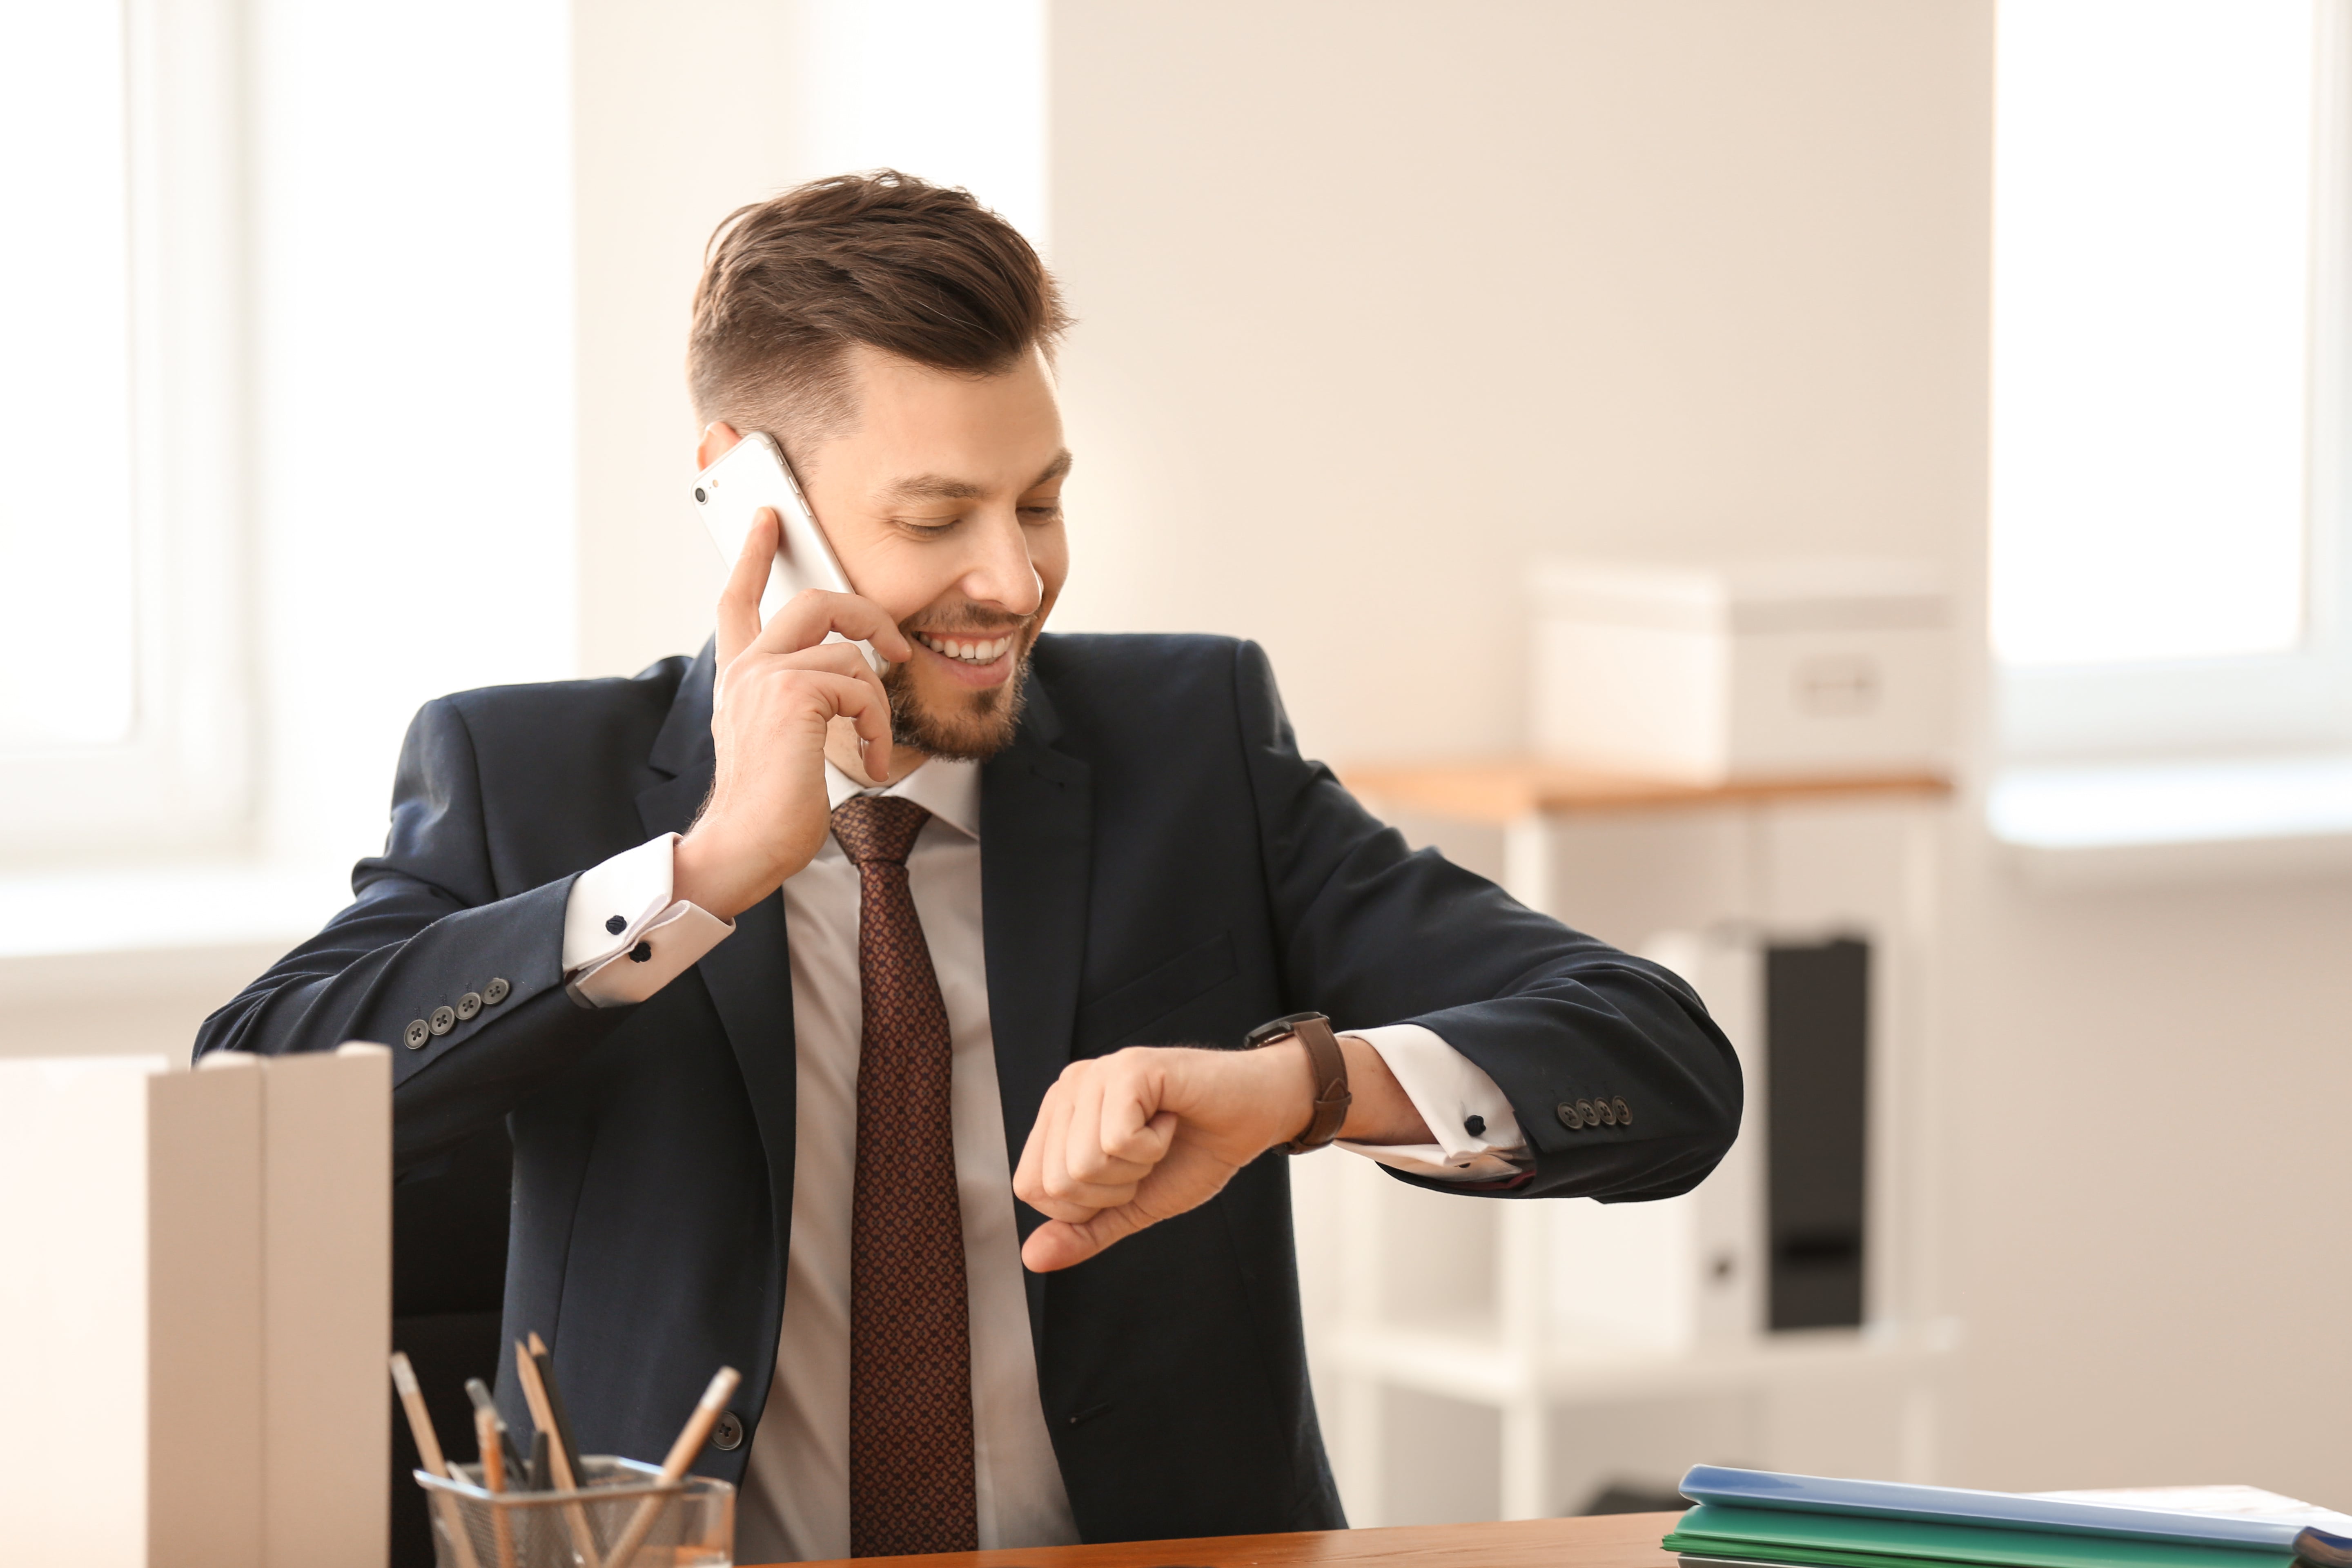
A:
{"type": "MultiPolygon", "coordinates": [[[[543,1333],[583,1448],[659,1458],[713,1368],[757,1429],[793,1215],[783,898],[640,1006],[562,976],[572,879],[684,830],[710,788],[710,649],[635,679],[499,686],[416,715],[355,903],[198,1037],[202,1051],[400,1041],[402,1171],[506,1117],[506,1333],[543,1333]]],[[[981,769],[988,1009],[1014,1161],[1063,1063],[1235,1046],[1303,1009],[1421,1023],[1510,1098],[1534,1171],[1489,1197],[1672,1197],[1738,1128],[1740,1074],[1656,964],[1409,853],[1298,757],[1265,656],[1223,637],[1042,637],[1016,741],[981,769]],[[1562,1103],[1630,1126],[1569,1131],[1562,1103]]],[[[1428,1182],[1439,1185],[1442,1182],[1428,1182]]],[[[1040,1215],[1018,1208],[1021,1234],[1040,1215]]],[[[1214,1201],[1028,1276],[1037,1385],[1077,1528],[1152,1540],[1341,1523],[1298,1328],[1279,1152],[1214,1201]]],[[[508,1420],[522,1420],[513,1368],[508,1420]]],[[[527,1427],[524,1427],[527,1429],[527,1427]]],[[[741,1481],[748,1443],[696,1469],[741,1481]]]]}

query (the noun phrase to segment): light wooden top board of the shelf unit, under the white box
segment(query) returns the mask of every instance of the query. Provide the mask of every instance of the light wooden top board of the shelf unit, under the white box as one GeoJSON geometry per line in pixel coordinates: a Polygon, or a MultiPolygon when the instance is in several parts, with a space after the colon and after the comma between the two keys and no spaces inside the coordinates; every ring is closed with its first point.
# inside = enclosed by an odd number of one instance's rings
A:
{"type": "Polygon", "coordinates": [[[1693,785],[1672,778],[1595,773],[1559,762],[1496,757],[1456,764],[1364,764],[1338,771],[1357,795],[1404,811],[1428,811],[1472,823],[1512,823],[1536,813],[1656,811],[1729,806],[1839,795],[1945,797],[1940,773],[1870,773],[1853,778],[1736,778],[1693,785]]]}

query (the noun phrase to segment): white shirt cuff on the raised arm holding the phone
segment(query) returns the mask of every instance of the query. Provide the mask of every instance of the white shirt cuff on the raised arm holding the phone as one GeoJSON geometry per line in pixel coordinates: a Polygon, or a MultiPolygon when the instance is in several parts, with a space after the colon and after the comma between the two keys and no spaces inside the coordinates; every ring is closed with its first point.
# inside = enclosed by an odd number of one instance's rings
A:
{"type": "Polygon", "coordinates": [[[564,903],[564,990],[588,1006],[644,1001],[717,947],[734,922],[670,896],[677,835],[593,865],[564,903]]]}

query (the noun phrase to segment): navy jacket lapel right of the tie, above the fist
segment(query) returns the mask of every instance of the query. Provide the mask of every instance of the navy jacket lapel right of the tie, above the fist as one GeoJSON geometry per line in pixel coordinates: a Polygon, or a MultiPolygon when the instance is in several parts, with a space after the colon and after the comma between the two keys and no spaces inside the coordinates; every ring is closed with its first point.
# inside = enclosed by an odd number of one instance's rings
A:
{"type": "MultiPolygon", "coordinates": [[[[1094,771],[1051,748],[1058,733],[1061,722],[1033,670],[1018,738],[981,769],[988,1018],[997,1044],[1004,1145],[1016,1168],[1044,1091],[1070,1060],[1087,954],[1094,771]]],[[[1040,1225],[1037,1211],[1025,1204],[1014,1208],[1014,1218],[1023,1239],[1040,1225]]],[[[1044,1276],[1025,1279],[1035,1328],[1044,1276]]]]}

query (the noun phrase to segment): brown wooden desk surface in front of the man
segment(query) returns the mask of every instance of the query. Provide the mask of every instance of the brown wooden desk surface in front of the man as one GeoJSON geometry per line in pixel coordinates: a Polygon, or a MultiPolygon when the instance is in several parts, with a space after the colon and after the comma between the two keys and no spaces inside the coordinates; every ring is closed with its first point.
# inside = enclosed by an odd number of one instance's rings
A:
{"type": "Polygon", "coordinates": [[[1512,1523],[1414,1523],[1388,1530],[1211,1535],[1112,1547],[861,1556],[818,1568],[1672,1568],[1658,1549],[1682,1514],[1602,1514],[1512,1523]]]}

